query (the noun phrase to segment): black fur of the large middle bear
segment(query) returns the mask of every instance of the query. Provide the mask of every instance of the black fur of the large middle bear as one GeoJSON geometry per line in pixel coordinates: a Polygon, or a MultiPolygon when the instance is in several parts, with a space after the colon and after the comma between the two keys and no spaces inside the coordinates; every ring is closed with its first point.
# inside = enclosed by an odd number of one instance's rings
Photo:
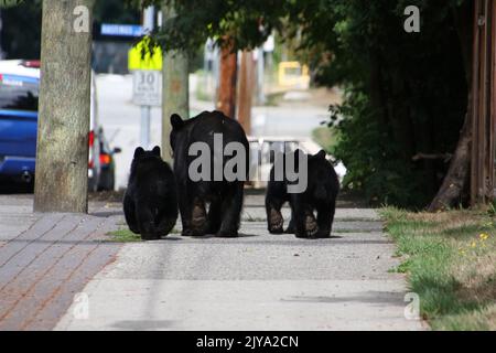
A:
{"type": "MultiPolygon", "coordinates": [[[[244,181],[192,181],[190,163],[196,157],[188,156],[194,142],[206,142],[214,153],[214,133],[223,135],[223,148],[231,141],[240,142],[246,150],[248,171],[249,147],[245,131],[234,119],[220,111],[204,111],[188,120],[179,115],[171,116],[171,146],[174,152],[174,173],[177,180],[179,206],[183,224],[183,235],[234,237],[238,235],[242,208],[244,181]],[[206,211],[207,205],[208,212],[206,211]]],[[[212,156],[214,163],[214,156],[212,156]]],[[[223,165],[229,157],[223,158],[223,165]]],[[[211,165],[213,173],[213,165],[211,165]]],[[[212,174],[211,174],[212,175],[212,174]]],[[[211,179],[213,180],[213,179],[211,179]]]]}

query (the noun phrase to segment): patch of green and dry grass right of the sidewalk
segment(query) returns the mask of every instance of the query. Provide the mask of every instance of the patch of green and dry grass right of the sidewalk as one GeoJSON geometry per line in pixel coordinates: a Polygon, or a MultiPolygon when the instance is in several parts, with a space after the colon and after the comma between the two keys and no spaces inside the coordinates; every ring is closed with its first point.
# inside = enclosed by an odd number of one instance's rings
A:
{"type": "Polygon", "coordinates": [[[496,330],[496,220],[483,211],[381,211],[433,330],[496,330]]]}

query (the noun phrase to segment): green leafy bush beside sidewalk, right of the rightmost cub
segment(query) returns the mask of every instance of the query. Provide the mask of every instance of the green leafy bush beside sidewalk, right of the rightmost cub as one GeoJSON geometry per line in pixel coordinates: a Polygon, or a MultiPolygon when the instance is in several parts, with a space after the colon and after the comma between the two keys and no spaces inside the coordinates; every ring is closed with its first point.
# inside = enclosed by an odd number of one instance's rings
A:
{"type": "Polygon", "coordinates": [[[371,204],[421,206],[427,202],[422,172],[401,159],[401,147],[374,118],[365,94],[348,93],[345,105],[332,107],[332,116],[339,131],[332,153],[347,168],[343,188],[362,191],[371,204]]]}

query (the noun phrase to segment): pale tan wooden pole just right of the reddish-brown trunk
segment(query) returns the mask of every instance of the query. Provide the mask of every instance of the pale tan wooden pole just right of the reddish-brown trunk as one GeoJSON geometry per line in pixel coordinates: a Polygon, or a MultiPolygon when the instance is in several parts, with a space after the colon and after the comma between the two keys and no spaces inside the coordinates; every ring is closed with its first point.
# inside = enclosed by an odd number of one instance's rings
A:
{"type": "Polygon", "coordinates": [[[238,120],[247,135],[251,130],[251,103],[255,83],[254,68],[252,52],[244,51],[239,67],[238,120]]]}

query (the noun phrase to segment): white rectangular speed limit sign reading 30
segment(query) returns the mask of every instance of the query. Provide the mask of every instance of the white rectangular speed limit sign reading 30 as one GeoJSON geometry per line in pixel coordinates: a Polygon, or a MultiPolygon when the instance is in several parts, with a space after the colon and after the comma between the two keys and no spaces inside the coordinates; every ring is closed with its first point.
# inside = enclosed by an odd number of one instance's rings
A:
{"type": "Polygon", "coordinates": [[[132,103],[140,106],[162,105],[162,73],[138,69],[132,77],[132,103]]]}

